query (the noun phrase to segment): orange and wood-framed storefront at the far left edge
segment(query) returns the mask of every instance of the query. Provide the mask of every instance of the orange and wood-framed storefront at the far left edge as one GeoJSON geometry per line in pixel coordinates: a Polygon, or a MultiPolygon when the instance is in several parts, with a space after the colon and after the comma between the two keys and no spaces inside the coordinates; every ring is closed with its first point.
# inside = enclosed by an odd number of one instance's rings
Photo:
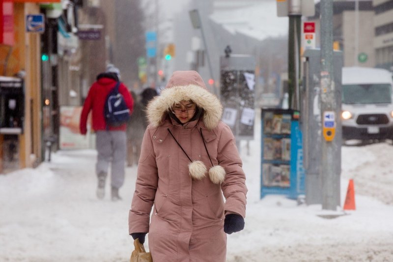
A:
{"type": "Polygon", "coordinates": [[[26,14],[39,14],[27,1],[0,1],[1,127],[0,173],[33,167],[42,157],[40,34],[28,32],[26,14]],[[9,83],[22,85],[11,86],[9,83]]]}

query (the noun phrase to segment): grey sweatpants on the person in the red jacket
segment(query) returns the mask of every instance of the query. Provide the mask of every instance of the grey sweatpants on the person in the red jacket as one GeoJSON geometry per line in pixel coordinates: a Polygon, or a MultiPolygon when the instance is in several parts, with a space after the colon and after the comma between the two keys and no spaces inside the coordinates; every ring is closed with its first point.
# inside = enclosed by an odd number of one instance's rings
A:
{"type": "Polygon", "coordinates": [[[101,172],[108,173],[109,163],[111,163],[111,185],[116,188],[120,188],[124,183],[126,145],[125,131],[96,132],[97,175],[101,172]]]}

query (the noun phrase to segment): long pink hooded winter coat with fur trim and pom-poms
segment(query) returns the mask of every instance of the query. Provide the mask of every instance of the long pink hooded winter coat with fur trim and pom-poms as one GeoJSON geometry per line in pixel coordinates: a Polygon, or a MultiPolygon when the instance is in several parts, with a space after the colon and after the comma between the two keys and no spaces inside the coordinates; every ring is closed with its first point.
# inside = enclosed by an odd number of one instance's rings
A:
{"type": "Polygon", "coordinates": [[[154,262],[225,262],[225,214],[245,217],[247,187],[220,101],[196,71],[176,71],[147,114],[129,233],[148,232],[154,262]],[[203,109],[200,118],[184,125],[170,118],[181,100],[203,109]]]}

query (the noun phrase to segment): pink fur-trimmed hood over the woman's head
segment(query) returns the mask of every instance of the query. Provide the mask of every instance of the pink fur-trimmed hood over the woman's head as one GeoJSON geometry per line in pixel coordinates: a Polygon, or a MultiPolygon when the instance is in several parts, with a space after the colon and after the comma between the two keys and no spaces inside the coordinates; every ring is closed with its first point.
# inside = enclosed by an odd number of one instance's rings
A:
{"type": "Polygon", "coordinates": [[[157,127],[163,123],[168,111],[181,100],[192,100],[203,109],[202,121],[207,129],[217,127],[223,114],[220,100],[206,88],[196,71],[175,71],[161,95],[151,100],[147,106],[147,118],[157,127]]]}

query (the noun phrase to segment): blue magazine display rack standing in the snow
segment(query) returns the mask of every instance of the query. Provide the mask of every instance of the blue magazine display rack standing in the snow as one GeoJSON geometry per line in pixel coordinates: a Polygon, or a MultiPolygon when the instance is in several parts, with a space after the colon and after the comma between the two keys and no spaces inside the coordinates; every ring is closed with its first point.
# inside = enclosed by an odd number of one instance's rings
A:
{"type": "Polygon", "coordinates": [[[296,199],[304,194],[299,112],[262,109],[261,198],[268,194],[296,199]]]}

